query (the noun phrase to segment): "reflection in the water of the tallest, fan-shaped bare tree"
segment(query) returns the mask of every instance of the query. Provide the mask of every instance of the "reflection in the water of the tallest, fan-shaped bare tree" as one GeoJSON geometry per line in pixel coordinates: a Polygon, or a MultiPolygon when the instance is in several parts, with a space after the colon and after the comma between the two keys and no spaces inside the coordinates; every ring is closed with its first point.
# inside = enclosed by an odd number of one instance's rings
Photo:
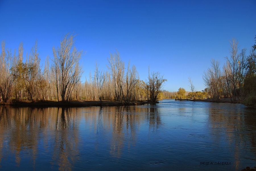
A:
{"type": "Polygon", "coordinates": [[[72,164],[79,159],[77,122],[76,108],[57,109],[53,161],[57,162],[59,170],[71,170],[72,164]]]}

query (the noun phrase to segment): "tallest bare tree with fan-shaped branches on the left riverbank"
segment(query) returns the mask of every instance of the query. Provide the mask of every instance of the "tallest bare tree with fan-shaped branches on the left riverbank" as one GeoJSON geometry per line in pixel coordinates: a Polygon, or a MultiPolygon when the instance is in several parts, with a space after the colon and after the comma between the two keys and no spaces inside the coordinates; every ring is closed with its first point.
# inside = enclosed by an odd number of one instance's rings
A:
{"type": "MultiPolygon", "coordinates": [[[[82,69],[79,66],[82,51],[74,46],[74,36],[66,34],[61,40],[60,47],[53,47],[53,64],[51,70],[55,76],[57,97],[61,101],[69,101],[74,87],[80,82],[82,69]]],[[[59,100],[59,99],[58,99],[59,100]]]]}

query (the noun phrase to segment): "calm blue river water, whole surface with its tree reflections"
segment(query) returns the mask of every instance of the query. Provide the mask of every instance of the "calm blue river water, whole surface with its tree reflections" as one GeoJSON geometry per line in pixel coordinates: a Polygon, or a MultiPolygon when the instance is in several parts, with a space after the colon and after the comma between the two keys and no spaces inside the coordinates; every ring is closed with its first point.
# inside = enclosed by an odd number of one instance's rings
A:
{"type": "Polygon", "coordinates": [[[162,100],[130,107],[0,107],[0,170],[245,166],[256,166],[256,110],[241,104],[162,100]]]}

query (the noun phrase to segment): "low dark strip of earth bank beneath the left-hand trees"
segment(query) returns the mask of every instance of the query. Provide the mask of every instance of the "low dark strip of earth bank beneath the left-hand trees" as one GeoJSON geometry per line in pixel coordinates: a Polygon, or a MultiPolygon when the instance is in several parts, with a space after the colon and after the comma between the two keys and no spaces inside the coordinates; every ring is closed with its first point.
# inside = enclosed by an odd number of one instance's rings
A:
{"type": "Polygon", "coordinates": [[[15,107],[88,107],[88,106],[132,106],[132,105],[144,105],[144,104],[153,104],[153,102],[130,102],[129,104],[125,104],[119,101],[107,101],[103,100],[102,103],[100,101],[69,101],[69,102],[61,102],[61,101],[24,101],[24,102],[13,102],[10,104],[1,104],[1,105],[9,105],[15,107]]]}

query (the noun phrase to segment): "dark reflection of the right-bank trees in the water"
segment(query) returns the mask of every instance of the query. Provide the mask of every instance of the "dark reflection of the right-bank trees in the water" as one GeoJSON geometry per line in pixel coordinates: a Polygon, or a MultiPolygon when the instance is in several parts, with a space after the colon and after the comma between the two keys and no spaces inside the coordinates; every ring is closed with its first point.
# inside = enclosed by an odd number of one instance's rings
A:
{"type": "Polygon", "coordinates": [[[213,107],[208,109],[214,141],[221,142],[220,145],[222,145],[223,137],[228,140],[228,145],[234,154],[233,166],[239,170],[241,157],[247,158],[248,153],[256,155],[255,111],[251,109],[241,110],[234,104],[230,104],[229,108],[212,105],[213,107]]]}

